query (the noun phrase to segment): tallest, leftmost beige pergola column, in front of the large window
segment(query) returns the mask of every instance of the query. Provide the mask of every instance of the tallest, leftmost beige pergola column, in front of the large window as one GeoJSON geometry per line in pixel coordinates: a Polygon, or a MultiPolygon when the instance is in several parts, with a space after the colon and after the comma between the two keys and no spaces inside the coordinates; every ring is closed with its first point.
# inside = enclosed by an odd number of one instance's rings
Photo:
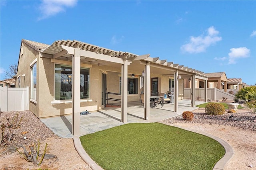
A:
{"type": "Polygon", "coordinates": [[[80,54],[79,48],[74,49],[72,58],[72,134],[80,135],[80,54]]]}

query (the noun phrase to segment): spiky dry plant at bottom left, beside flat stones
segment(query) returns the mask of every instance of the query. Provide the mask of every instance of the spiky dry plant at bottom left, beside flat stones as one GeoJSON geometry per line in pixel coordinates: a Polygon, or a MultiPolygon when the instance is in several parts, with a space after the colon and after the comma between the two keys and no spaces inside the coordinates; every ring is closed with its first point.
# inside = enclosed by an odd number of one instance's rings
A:
{"type": "Polygon", "coordinates": [[[24,150],[23,153],[20,152],[18,149],[17,149],[17,151],[18,151],[20,154],[23,155],[23,158],[24,158],[26,161],[28,161],[28,162],[33,162],[34,165],[40,166],[40,164],[42,163],[42,161],[43,161],[43,159],[44,159],[44,155],[45,155],[46,148],[47,148],[47,143],[45,144],[44,152],[43,152],[43,154],[42,154],[42,156],[41,156],[40,161],[38,160],[38,156],[39,156],[39,152],[40,152],[40,142],[39,142],[39,140],[37,141],[37,145],[34,143],[34,145],[31,144],[31,145],[29,146],[30,152],[28,152],[28,151],[26,150],[26,147],[24,147],[23,145],[16,144],[16,146],[23,148],[23,150],[24,150]],[[34,148],[34,147],[35,147],[35,148],[34,148]]]}

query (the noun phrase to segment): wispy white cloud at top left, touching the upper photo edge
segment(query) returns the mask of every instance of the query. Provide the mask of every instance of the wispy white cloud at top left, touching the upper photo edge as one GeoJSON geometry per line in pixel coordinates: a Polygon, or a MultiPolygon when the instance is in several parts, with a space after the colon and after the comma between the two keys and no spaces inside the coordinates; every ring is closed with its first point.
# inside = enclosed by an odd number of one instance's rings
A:
{"type": "Polygon", "coordinates": [[[78,0],[42,0],[39,7],[42,16],[38,20],[43,20],[54,16],[60,12],[65,12],[66,8],[76,6],[78,0]]]}

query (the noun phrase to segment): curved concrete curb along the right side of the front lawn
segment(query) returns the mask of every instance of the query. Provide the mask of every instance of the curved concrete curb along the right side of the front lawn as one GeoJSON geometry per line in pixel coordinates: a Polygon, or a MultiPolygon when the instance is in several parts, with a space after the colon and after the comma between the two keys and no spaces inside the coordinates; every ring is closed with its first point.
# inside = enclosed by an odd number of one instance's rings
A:
{"type": "Polygon", "coordinates": [[[233,150],[233,148],[226,142],[224,141],[223,139],[220,139],[219,137],[216,137],[214,135],[211,135],[209,133],[205,133],[205,132],[202,132],[202,131],[197,131],[197,130],[194,130],[194,129],[189,129],[189,128],[186,128],[186,127],[182,127],[182,126],[179,126],[179,125],[174,125],[174,124],[170,124],[170,123],[166,123],[166,122],[160,122],[158,121],[158,123],[162,123],[164,125],[169,125],[169,126],[174,126],[174,127],[178,127],[180,129],[184,129],[186,131],[191,131],[191,132],[194,132],[194,133],[198,133],[198,134],[201,134],[201,135],[205,135],[205,136],[208,136],[216,141],[218,141],[218,143],[220,143],[220,145],[222,145],[225,149],[225,154],[224,156],[214,165],[213,169],[212,170],[224,170],[224,167],[228,164],[228,162],[230,162],[230,160],[233,158],[235,152],[233,150]]]}

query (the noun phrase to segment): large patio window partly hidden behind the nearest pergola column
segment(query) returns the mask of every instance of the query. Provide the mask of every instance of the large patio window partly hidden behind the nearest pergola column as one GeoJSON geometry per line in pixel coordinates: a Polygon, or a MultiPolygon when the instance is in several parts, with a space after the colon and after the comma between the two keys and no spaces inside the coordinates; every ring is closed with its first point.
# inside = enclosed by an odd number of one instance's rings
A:
{"type": "MultiPolygon", "coordinates": [[[[90,69],[80,70],[80,99],[88,99],[90,69]]],[[[72,99],[72,66],[55,64],[55,100],[72,99]]]]}

